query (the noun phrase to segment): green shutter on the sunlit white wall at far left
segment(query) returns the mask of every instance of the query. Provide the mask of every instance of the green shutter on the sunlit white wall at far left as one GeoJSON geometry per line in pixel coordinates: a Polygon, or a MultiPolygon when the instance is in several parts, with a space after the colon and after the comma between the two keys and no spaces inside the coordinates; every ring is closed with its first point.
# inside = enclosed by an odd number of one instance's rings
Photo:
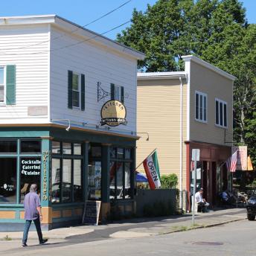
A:
{"type": "Polygon", "coordinates": [[[6,66],[6,105],[16,103],[16,65],[6,66]]]}

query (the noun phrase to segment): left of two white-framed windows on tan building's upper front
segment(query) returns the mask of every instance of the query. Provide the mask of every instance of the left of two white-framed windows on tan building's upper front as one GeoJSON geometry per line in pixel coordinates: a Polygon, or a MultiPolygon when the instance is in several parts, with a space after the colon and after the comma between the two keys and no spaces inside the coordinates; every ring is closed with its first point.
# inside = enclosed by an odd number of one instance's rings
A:
{"type": "Polygon", "coordinates": [[[202,92],[195,94],[195,118],[196,121],[207,122],[207,95],[202,92]]]}

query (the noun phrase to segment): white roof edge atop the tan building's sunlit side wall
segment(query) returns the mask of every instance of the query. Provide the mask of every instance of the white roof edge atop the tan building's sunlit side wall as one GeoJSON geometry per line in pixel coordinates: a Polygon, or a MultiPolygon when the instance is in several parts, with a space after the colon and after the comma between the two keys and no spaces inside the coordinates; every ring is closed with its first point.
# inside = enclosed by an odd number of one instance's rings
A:
{"type": "Polygon", "coordinates": [[[137,73],[138,80],[179,79],[179,77],[187,79],[187,76],[188,73],[185,71],[137,73]]]}

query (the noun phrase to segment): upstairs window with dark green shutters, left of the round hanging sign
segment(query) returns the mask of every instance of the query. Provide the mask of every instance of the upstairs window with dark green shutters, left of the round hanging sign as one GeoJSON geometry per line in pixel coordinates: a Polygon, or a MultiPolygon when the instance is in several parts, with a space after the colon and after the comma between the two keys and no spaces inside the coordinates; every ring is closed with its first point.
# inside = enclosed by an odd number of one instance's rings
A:
{"type": "Polygon", "coordinates": [[[68,70],[68,109],[85,109],[85,75],[68,70]]]}

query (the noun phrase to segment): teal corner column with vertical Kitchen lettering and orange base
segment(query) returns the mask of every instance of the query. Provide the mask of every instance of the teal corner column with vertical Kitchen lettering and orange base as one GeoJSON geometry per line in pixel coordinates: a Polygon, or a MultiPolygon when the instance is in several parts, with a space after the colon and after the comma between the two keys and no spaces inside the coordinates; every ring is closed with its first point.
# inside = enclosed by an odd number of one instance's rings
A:
{"type": "Polygon", "coordinates": [[[51,176],[51,138],[42,138],[41,160],[41,206],[42,223],[52,223],[52,208],[50,202],[50,176],[51,176]]]}

